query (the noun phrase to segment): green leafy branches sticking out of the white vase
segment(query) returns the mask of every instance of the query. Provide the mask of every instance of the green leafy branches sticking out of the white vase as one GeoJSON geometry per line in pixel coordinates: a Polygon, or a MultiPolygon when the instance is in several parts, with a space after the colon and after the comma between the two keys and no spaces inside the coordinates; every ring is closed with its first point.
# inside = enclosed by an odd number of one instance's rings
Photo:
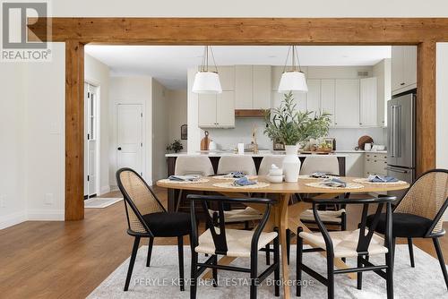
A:
{"type": "Polygon", "coordinates": [[[266,134],[272,141],[285,145],[305,146],[311,138],[318,139],[328,134],[332,123],[330,114],[299,111],[292,92],[284,95],[280,107],[266,110],[264,120],[266,134]]]}

